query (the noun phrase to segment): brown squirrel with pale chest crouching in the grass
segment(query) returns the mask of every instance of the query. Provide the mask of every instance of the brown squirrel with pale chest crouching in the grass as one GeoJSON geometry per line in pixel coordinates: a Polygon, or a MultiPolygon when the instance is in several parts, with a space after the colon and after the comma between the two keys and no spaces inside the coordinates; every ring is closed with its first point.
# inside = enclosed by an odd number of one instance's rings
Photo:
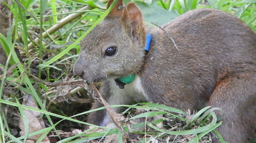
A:
{"type": "MultiPolygon", "coordinates": [[[[144,26],[134,2],[122,5],[119,0],[80,43],[74,73],[102,81],[109,105],[137,99],[182,110],[219,107],[225,115],[217,130],[224,140],[248,142],[256,130],[256,33],[223,11],[196,9],[162,26],[176,49],[163,30],[144,26]],[[146,34],[152,36],[148,52],[146,34]],[[131,74],[131,83],[117,86],[115,79],[131,74]]],[[[96,100],[92,109],[102,106],[96,100]]],[[[87,121],[105,126],[109,115],[99,110],[87,121]]]]}

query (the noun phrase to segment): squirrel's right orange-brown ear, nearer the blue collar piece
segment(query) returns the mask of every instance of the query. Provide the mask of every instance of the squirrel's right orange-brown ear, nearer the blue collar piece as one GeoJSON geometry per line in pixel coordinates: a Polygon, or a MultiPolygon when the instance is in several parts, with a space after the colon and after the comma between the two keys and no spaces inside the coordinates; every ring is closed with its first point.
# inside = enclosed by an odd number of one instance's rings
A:
{"type": "Polygon", "coordinates": [[[141,10],[139,9],[139,7],[137,7],[137,5],[135,5],[134,2],[129,2],[126,5],[125,11],[127,13],[130,24],[132,25],[132,35],[135,36],[135,34],[138,34],[137,32],[140,32],[136,30],[143,28],[143,18],[141,10]]]}

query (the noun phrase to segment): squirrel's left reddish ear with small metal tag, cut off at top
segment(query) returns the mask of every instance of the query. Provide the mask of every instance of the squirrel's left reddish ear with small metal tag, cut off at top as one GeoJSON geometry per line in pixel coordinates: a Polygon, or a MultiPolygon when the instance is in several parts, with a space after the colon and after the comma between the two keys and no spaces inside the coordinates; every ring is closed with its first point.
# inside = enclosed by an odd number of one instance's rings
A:
{"type": "MultiPolygon", "coordinates": [[[[114,0],[109,0],[108,4],[107,4],[107,9],[109,8],[109,6],[112,4],[114,0]]],[[[121,16],[123,13],[123,9],[118,9],[119,6],[124,5],[124,3],[122,2],[122,0],[117,0],[117,4],[115,4],[115,6],[113,7],[113,9],[109,12],[108,17],[110,16],[121,16]]]]}

